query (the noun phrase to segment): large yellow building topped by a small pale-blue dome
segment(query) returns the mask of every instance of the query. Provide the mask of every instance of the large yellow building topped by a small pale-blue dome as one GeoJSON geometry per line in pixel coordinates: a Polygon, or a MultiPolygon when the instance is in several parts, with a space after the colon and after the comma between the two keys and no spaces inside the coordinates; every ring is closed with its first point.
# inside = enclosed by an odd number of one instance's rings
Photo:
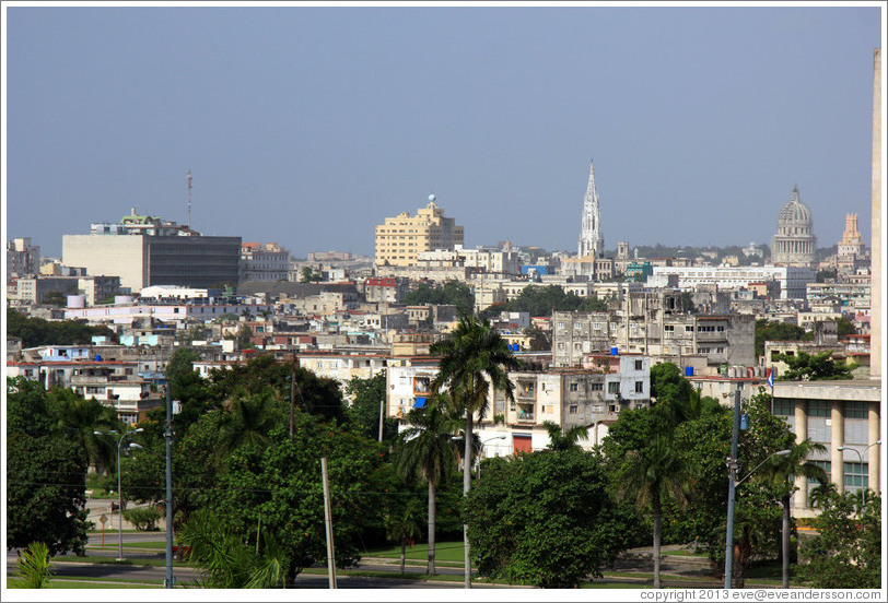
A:
{"type": "Polygon", "coordinates": [[[404,212],[376,226],[376,265],[416,265],[420,252],[457,245],[463,245],[463,227],[444,217],[435,196],[430,194],[429,204],[417,210],[416,216],[404,212]]]}

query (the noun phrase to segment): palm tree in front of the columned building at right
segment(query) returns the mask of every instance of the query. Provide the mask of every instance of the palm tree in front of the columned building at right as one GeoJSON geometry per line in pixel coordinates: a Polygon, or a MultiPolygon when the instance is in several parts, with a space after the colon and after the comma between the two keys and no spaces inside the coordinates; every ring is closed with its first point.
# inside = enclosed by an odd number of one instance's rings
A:
{"type": "Polygon", "coordinates": [[[803,475],[809,480],[817,480],[820,484],[829,483],[829,475],[822,468],[807,461],[814,452],[826,452],[827,448],[809,439],[791,445],[788,454],[773,454],[761,468],[758,480],[773,487],[780,493],[780,504],[783,508],[783,525],[781,528],[781,558],[783,570],[783,588],[790,588],[790,497],[795,487],[793,480],[803,475]]]}

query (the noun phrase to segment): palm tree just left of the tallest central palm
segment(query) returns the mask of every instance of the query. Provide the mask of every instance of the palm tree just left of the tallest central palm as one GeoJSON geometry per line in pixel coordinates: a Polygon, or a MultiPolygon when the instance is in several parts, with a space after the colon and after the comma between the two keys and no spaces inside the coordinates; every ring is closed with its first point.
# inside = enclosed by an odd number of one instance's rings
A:
{"type": "Polygon", "coordinates": [[[425,572],[435,575],[435,490],[456,468],[453,433],[458,421],[453,418],[440,398],[422,412],[407,414],[410,425],[398,435],[393,454],[395,466],[408,480],[419,476],[429,484],[429,565],[425,572]]]}

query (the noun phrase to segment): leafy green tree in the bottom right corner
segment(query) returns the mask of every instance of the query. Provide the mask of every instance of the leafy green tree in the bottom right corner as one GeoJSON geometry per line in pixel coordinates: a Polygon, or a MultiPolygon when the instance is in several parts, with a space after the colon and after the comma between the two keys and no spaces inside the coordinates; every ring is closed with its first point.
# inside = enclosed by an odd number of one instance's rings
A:
{"type": "Polygon", "coordinates": [[[881,495],[867,492],[866,505],[854,493],[821,499],[811,524],[816,535],[802,540],[798,577],[815,589],[881,588],[881,495]]]}

